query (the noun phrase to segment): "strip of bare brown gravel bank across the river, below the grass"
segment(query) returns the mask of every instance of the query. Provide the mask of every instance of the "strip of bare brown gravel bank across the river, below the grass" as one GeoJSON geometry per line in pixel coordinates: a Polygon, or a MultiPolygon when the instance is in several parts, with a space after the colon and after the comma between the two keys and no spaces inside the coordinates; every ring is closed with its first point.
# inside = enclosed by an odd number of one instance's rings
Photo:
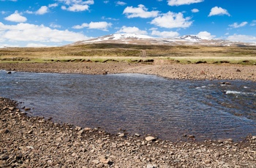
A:
{"type": "Polygon", "coordinates": [[[251,80],[256,81],[255,65],[177,64],[154,61],[153,64],[125,62],[48,62],[1,63],[0,69],[19,72],[56,72],[80,74],[141,73],[180,80],[251,80]]]}

